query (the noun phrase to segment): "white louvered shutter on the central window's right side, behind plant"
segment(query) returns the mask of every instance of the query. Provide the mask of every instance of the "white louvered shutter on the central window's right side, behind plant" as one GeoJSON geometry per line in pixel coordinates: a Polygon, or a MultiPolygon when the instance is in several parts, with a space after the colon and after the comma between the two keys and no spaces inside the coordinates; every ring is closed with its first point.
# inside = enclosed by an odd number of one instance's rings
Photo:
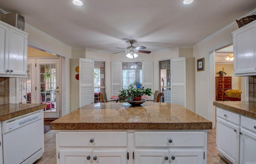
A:
{"type": "MultiPolygon", "coordinates": [[[[150,88],[153,91],[153,62],[143,62],[143,86],[144,88],[150,88]]],[[[153,100],[154,95],[148,96],[148,100],[153,100]]]]}

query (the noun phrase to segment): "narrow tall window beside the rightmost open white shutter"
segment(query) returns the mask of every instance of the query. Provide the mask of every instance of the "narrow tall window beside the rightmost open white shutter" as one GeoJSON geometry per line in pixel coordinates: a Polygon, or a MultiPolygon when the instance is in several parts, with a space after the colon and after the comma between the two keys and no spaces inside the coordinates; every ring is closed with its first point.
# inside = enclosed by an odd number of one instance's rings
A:
{"type": "Polygon", "coordinates": [[[171,102],[171,60],[159,61],[161,102],[171,102]]]}

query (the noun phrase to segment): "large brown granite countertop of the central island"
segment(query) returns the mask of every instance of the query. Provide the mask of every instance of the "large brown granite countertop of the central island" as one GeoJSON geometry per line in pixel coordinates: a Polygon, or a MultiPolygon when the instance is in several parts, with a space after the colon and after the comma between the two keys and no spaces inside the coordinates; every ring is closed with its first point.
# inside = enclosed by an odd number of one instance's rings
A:
{"type": "Polygon", "coordinates": [[[212,122],[173,103],[94,103],[50,123],[52,130],[196,130],[212,129],[212,122]]]}

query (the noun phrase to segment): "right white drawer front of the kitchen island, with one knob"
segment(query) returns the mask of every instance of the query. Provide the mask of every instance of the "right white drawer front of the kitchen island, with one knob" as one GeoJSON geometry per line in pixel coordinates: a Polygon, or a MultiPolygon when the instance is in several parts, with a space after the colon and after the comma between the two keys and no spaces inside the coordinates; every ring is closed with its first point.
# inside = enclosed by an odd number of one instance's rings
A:
{"type": "Polygon", "coordinates": [[[193,132],[135,132],[135,146],[143,147],[174,147],[204,146],[203,131],[193,132]]]}

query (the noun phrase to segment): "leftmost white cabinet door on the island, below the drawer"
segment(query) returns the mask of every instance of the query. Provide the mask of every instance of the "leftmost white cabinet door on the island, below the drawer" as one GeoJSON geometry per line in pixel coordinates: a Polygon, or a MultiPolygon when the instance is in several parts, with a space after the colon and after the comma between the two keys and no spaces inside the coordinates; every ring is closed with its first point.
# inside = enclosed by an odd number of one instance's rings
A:
{"type": "Polygon", "coordinates": [[[92,150],[81,150],[81,149],[60,150],[59,164],[92,164],[91,154],[92,154],[92,150]],[[90,157],[90,159],[87,159],[87,157],[88,158],[90,157]]]}

